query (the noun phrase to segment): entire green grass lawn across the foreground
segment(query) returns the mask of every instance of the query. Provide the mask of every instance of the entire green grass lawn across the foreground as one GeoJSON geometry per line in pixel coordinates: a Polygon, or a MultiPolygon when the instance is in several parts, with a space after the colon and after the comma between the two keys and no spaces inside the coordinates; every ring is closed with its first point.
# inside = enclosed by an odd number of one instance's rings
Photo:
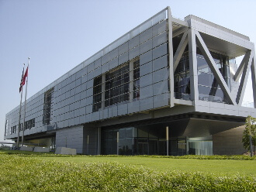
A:
{"type": "Polygon", "coordinates": [[[0,191],[247,192],[256,189],[255,163],[244,156],[63,156],[0,150],[0,191]]]}

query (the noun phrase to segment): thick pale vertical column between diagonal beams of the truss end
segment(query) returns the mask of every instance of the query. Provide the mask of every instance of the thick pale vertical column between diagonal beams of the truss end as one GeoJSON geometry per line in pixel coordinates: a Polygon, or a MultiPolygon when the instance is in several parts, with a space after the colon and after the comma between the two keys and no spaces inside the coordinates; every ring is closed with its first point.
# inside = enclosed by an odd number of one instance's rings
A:
{"type": "Polygon", "coordinates": [[[195,29],[189,29],[188,35],[189,35],[188,37],[189,37],[190,99],[194,101],[194,105],[195,105],[199,100],[195,29]]]}

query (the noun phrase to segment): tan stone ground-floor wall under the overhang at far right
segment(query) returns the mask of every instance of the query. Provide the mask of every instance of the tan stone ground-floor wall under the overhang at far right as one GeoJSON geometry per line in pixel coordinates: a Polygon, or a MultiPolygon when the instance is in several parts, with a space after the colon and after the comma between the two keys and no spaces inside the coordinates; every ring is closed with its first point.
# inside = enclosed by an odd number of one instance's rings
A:
{"type": "Polygon", "coordinates": [[[246,152],[242,137],[244,125],[213,135],[214,155],[241,155],[246,152]]]}

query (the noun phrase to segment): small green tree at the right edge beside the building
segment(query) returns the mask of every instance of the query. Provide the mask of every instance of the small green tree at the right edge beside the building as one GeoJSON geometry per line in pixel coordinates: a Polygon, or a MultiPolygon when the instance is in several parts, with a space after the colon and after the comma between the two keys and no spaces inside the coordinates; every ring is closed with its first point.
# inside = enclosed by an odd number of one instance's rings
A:
{"type": "Polygon", "coordinates": [[[248,149],[248,150],[250,150],[250,129],[251,129],[252,149],[255,153],[255,147],[256,147],[256,118],[252,118],[251,116],[248,116],[245,120],[245,129],[244,129],[243,139],[242,139],[242,142],[244,143],[244,148],[248,149]],[[251,123],[249,123],[250,118],[251,118],[251,123]]]}

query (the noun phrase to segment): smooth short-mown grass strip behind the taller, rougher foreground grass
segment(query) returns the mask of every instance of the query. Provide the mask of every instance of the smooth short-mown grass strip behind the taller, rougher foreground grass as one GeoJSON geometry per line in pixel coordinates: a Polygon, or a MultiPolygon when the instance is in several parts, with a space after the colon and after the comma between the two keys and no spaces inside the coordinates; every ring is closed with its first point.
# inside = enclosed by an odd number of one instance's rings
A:
{"type": "Polygon", "coordinates": [[[182,172],[214,173],[216,175],[253,175],[256,177],[256,160],[234,159],[171,159],[140,156],[38,156],[39,159],[67,161],[74,163],[109,163],[144,166],[157,171],[180,170],[182,172]]]}

